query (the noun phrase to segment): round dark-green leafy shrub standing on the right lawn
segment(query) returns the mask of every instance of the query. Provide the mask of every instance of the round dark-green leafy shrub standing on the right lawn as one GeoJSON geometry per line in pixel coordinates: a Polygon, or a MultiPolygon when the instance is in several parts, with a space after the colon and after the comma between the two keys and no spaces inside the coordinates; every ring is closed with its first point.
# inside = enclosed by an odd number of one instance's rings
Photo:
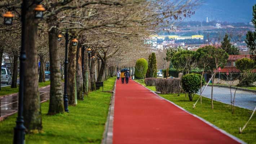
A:
{"type": "MultiPolygon", "coordinates": [[[[189,100],[192,101],[195,93],[201,88],[201,75],[196,73],[191,73],[184,75],[181,78],[182,88],[188,94],[189,100]]],[[[204,85],[205,80],[203,78],[202,85],[204,85]]]]}

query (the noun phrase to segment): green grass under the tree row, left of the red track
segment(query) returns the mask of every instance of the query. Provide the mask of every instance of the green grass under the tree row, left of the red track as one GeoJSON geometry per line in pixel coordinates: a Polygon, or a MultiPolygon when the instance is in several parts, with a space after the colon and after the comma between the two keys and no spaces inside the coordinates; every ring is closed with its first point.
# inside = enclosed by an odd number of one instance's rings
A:
{"type": "MultiPolygon", "coordinates": [[[[104,82],[104,90],[112,90],[115,77],[104,82]]],[[[69,113],[47,116],[49,102],[41,104],[43,132],[27,134],[26,144],[100,144],[108,114],[111,93],[89,93],[78,100],[69,113]]],[[[12,143],[17,114],[0,122],[0,144],[12,143]]]]}

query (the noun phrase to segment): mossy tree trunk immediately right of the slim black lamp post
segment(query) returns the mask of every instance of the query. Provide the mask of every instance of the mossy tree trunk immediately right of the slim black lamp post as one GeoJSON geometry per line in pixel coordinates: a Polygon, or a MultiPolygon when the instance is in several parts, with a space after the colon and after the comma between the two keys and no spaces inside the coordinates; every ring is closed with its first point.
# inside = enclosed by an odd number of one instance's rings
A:
{"type": "Polygon", "coordinates": [[[76,74],[76,49],[77,46],[69,45],[69,66],[67,67],[67,95],[69,97],[69,105],[76,105],[75,95],[75,74],[76,74]]]}

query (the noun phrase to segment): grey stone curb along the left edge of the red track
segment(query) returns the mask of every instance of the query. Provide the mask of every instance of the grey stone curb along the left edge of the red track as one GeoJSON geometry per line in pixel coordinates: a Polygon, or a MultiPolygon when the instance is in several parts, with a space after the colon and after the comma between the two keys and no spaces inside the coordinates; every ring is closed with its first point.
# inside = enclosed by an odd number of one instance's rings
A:
{"type": "Polygon", "coordinates": [[[101,144],[112,144],[113,142],[115,89],[116,89],[116,80],[115,80],[114,90],[113,90],[110,104],[109,104],[109,112],[107,115],[107,121],[105,123],[105,130],[103,132],[103,139],[101,140],[101,144]]]}

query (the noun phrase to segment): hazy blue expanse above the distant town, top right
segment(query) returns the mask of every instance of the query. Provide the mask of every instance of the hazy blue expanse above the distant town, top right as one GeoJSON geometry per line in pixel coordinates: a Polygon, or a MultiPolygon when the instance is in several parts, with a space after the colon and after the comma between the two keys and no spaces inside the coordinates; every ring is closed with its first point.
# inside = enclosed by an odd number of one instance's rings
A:
{"type": "Polygon", "coordinates": [[[195,10],[195,15],[186,21],[251,22],[252,6],[256,0],[204,0],[195,10]]]}

